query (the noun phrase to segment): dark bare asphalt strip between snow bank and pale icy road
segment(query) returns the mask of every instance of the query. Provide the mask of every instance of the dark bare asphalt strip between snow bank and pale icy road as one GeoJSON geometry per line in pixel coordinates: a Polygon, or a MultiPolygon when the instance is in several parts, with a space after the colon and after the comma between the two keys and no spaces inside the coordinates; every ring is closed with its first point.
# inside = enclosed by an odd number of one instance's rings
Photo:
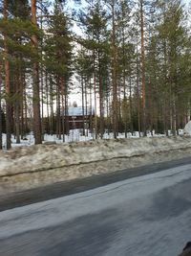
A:
{"type": "Polygon", "coordinates": [[[85,178],[56,182],[51,185],[46,185],[27,191],[20,191],[17,193],[8,194],[6,196],[5,194],[3,196],[0,195],[0,212],[11,208],[32,204],[34,202],[84,192],[131,177],[154,174],[162,170],[179,167],[185,164],[191,164],[191,157],[149,164],[144,167],[128,168],[126,170],[120,170],[109,174],[93,175],[85,178]]]}

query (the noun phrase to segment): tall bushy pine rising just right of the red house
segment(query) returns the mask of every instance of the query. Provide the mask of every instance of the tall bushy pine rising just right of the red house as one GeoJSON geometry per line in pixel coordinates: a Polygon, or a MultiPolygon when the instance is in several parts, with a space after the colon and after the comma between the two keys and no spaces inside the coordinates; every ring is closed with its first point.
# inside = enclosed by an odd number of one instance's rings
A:
{"type": "Polygon", "coordinates": [[[109,68],[108,15],[104,11],[101,1],[88,1],[88,4],[86,14],[82,12],[80,15],[80,22],[83,25],[86,38],[79,40],[79,43],[87,49],[89,58],[92,59],[93,63],[92,81],[94,84],[95,111],[96,108],[99,109],[99,120],[97,113],[95,117],[95,135],[97,138],[99,125],[100,137],[102,138],[104,133],[104,99],[108,86],[109,68]]]}

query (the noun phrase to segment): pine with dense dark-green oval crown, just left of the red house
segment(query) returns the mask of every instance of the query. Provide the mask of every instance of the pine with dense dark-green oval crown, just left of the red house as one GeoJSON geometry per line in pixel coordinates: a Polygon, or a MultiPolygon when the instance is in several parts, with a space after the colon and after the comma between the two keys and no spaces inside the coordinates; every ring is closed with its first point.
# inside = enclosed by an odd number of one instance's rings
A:
{"type": "Polygon", "coordinates": [[[69,81],[72,75],[71,42],[69,17],[63,11],[59,1],[55,1],[46,39],[45,65],[56,83],[56,133],[59,139],[61,139],[61,133],[63,133],[63,140],[64,133],[69,132],[66,114],[68,111],[69,81]]]}

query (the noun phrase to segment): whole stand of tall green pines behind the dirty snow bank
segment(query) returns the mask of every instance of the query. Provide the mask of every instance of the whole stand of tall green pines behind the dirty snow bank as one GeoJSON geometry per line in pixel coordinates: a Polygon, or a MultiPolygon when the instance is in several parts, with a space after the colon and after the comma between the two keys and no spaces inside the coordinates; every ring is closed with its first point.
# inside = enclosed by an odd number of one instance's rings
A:
{"type": "Polygon", "coordinates": [[[0,149],[64,142],[69,97],[86,132],[179,135],[191,116],[191,5],[180,0],[1,0],[0,149]]]}

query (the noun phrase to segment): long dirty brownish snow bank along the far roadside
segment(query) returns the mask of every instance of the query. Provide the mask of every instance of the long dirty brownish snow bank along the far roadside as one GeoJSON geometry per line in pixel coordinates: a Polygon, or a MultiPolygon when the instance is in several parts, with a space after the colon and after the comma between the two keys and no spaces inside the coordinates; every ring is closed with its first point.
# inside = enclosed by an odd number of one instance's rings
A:
{"type": "Polygon", "coordinates": [[[191,137],[32,145],[0,152],[0,193],[189,156],[191,137]]]}

